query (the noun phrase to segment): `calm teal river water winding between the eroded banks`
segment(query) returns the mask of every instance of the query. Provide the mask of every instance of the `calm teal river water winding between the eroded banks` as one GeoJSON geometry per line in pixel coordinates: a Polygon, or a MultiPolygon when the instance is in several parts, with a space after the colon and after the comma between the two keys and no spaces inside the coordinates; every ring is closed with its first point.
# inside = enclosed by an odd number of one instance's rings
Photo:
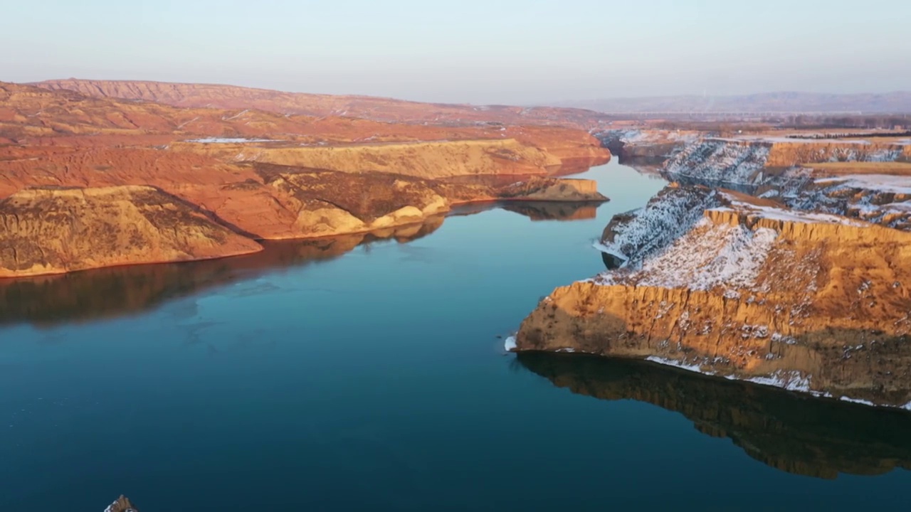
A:
{"type": "Polygon", "coordinates": [[[907,415],[503,353],[541,296],[604,268],[590,243],[611,215],[664,185],[586,177],[611,198],[597,219],[466,209],[347,253],[7,283],[0,510],[905,505],[907,415]]]}

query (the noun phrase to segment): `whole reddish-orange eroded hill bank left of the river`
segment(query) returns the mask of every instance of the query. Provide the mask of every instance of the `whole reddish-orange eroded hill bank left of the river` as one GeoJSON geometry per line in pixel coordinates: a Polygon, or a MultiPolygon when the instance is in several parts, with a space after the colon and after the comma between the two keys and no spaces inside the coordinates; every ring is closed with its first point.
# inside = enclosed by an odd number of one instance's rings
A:
{"type": "Polygon", "coordinates": [[[313,95],[90,84],[0,83],[0,277],[249,253],[466,202],[605,200],[592,181],[556,178],[606,162],[599,140],[522,109],[428,124],[436,106],[382,98],[358,100],[406,108],[364,119],[302,107],[313,95]]]}

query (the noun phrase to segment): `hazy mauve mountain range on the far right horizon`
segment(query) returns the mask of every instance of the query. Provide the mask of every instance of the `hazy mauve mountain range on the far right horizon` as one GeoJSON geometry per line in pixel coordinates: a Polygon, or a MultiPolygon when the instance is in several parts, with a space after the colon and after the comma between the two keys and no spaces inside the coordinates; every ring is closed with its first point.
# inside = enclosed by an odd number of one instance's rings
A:
{"type": "Polygon", "coordinates": [[[862,112],[911,113],[911,92],[820,94],[773,92],[741,96],[617,97],[558,103],[606,113],[862,112]]]}

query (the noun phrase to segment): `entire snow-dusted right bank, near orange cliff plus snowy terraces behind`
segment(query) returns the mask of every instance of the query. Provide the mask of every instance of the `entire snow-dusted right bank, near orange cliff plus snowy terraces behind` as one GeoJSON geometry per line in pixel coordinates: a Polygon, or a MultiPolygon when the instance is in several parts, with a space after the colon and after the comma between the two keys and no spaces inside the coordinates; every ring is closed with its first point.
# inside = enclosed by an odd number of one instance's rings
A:
{"type": "MultiPolygon", "coordinates": [[[[812,161],[772,172],[755,152],[765,143],[719,163],[744,144],[697,141],[670,159],[665,171],[687,169],[688,184],[611,220],[598,244],[609,271],[544,298],[510,350],[648,359],[911,409],[911,178],[826,177],[812,161]],[[752,177],[762,197],[717,188],[732,177],[752,177]]],[[[823,144],[798,160],[832,159],[823,144]]]]}

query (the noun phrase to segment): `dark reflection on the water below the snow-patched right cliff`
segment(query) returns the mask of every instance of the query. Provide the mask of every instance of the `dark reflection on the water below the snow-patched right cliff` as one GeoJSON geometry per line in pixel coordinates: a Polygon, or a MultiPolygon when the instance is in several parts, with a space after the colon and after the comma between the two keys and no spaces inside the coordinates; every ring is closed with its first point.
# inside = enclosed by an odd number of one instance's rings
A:
{"type": "Polygon", "coordinates": [[[558,387],[601,400],[638,400],[679,412],[702,434],[804,476],[882,475],[911,469],[911,413],[822,400],[635,360],[518,353],[517,364],[558,387]]]}

